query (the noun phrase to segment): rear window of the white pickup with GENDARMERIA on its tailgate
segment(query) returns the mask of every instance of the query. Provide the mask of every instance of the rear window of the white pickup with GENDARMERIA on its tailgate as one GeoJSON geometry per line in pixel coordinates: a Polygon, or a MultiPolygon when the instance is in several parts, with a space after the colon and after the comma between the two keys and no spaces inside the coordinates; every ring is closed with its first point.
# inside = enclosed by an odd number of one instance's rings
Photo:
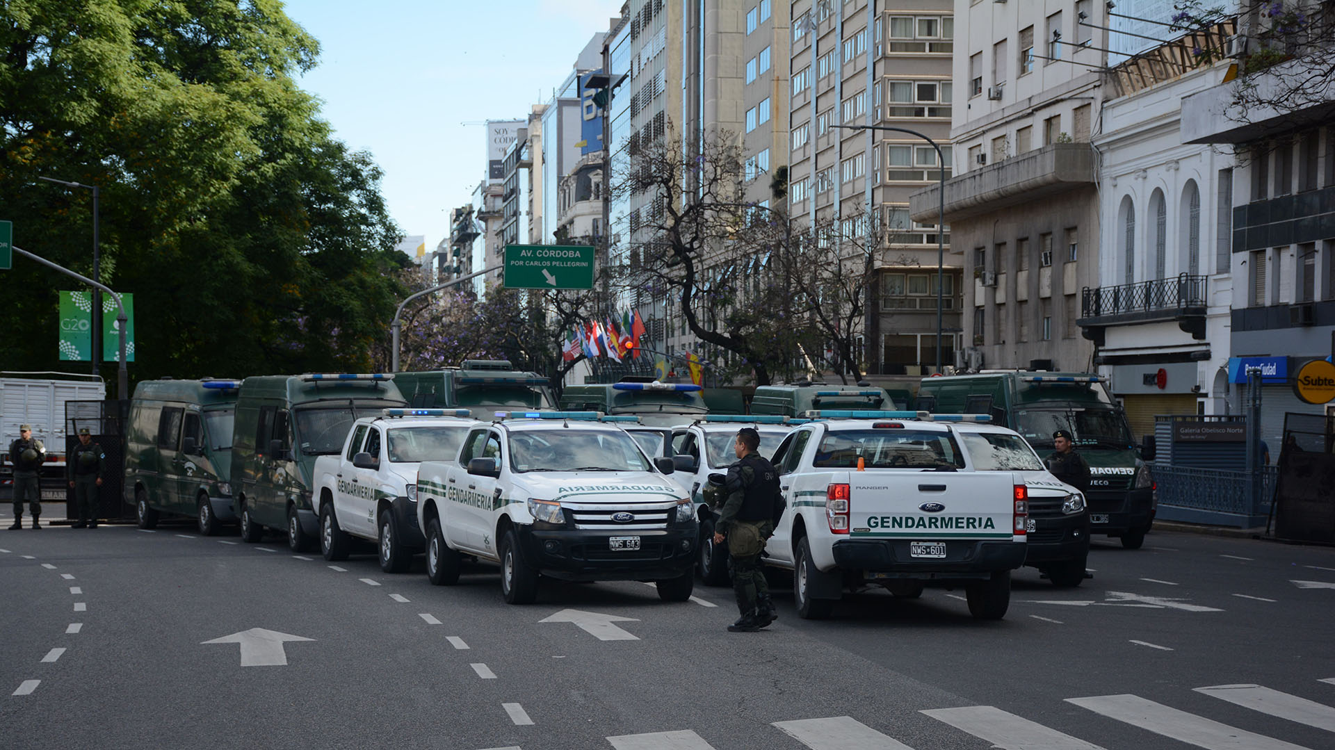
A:
{"type": "Polygon", "coordinates": [[[949,432],[872,428],[828,432],[816,450],[817,468],[964,468],[964,455],[949,432]]]}

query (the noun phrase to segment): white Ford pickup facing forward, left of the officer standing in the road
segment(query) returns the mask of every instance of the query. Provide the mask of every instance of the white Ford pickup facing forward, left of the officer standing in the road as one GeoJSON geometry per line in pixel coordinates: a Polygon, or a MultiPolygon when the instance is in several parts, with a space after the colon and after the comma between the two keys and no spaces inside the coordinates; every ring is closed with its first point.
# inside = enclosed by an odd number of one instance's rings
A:
{"type": "Polygon", "coordinates": [[[458,460],[418,470],[431,583],[457,583],[471,555],[501,563],[511,605],[533,602],[541,575],[653,581],[663,601],[690,598],[698,526],[670,458],[650,460],[598,412],[497,416],[469,431],[458,460]]]}

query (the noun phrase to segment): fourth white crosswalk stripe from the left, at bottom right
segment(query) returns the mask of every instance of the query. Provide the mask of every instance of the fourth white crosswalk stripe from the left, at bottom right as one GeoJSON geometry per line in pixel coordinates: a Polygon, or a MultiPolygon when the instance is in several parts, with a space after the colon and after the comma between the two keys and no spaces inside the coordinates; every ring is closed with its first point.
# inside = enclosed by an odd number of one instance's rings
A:
{"type": "Polygon", "coordinates": [[[1299,745],[1169,709],[1139,695],[1067,698],[1067,702],[1206,750],[1306,750],[1299,745]]]}

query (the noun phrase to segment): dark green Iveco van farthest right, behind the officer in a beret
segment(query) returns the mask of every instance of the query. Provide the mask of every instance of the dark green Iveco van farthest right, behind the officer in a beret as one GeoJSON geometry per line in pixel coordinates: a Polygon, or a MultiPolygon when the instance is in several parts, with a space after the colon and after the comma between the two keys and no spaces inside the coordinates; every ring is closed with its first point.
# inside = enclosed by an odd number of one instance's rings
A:
{"type": "MultiPolygon", "coordinates": [[[[1135,550],[1155,519],[1155,483],[1145,466],[1155,458],[1155,438],[1132,442],[1127,415],[1108,394],[1104,379],[1087,372],[999,371],[924,378],[917,408],[936,414],[991,414],[1039,455],[1052,452],[1052,434],[1069,430],[1089,464],[1091,534],[1121,539],[1135,550]]],[[[1041,543],[1031,535],[1029,543],[1041,543]]],[[[1053,539],[1055,543],[1060,539],[1053,539]]]]}

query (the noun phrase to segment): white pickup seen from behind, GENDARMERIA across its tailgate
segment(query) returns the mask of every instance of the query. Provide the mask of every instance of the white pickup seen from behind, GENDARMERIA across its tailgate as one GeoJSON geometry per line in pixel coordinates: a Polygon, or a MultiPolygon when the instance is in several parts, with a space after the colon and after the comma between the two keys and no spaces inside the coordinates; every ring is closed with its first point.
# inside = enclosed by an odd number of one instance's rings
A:
{"type": "Polygon", "coordinates": [[[817,411],[774,451],[788,510],[765,562],[793,571],[798,615],[824,618],[846,589],[917,597],[964,586],[969,613],[1000,619],[1024,565],[1028,488],[975,471],[949,420],[985,415],[817,411]],[[926,422],[924,419],[933,419],[926,422]]]}

